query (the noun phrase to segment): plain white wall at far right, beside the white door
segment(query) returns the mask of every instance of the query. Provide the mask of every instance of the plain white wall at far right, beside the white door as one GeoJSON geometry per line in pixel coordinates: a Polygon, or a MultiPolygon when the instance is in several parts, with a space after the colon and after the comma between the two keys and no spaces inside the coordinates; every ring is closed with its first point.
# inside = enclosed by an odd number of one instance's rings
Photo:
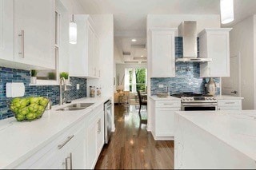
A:
{"type": "Polygon", "coordinates": [[[255,109],[254,16],[233,26],[230,31],[230,56],[240,53],[242,109],[255,109]]]}

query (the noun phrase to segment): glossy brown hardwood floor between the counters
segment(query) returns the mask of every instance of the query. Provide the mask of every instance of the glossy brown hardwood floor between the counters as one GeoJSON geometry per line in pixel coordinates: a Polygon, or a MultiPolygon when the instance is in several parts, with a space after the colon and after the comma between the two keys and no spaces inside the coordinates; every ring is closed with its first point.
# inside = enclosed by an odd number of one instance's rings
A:
{"type": "MultiPolygon", "coordinates": [[[[174,168],[174,142],[155,141],[146,124],[140,124],[138,110],[115,106],[116,130],[105,144],[96,169],[162,169],[174,168]]],[[[142,111],[142,117],[146,111],[142,111]]]]}

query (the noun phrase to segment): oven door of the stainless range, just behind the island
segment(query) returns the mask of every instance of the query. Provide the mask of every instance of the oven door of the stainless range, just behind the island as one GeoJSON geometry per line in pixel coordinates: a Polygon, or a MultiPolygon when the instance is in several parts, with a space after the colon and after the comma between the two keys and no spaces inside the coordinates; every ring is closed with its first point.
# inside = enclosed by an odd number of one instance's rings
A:
{"type": "Polygon", "coordinates": [[[182,103],[182,111],[217,110],[217,103],[182,103]]]}

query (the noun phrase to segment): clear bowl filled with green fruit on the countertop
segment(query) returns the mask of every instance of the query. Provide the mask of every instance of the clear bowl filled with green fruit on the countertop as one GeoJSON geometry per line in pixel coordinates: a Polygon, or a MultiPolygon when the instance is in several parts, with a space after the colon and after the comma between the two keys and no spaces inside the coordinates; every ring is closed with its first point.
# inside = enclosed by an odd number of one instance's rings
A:
{"type": "Polygon", "coordinates": [[[48,102],[45,97],[16,97],[8,105],[17,121],[34,121],[42,117],[48,102]]]}

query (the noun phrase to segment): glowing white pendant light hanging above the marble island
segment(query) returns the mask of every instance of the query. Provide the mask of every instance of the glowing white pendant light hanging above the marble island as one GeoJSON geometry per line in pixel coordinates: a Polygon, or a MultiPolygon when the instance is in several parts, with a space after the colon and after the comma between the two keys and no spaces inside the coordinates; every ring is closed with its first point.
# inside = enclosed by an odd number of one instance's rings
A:
{"type": "Polygon", "coordinates": [[[234,0],[220,0],[222,24],[234,21],[234,0]]]}

